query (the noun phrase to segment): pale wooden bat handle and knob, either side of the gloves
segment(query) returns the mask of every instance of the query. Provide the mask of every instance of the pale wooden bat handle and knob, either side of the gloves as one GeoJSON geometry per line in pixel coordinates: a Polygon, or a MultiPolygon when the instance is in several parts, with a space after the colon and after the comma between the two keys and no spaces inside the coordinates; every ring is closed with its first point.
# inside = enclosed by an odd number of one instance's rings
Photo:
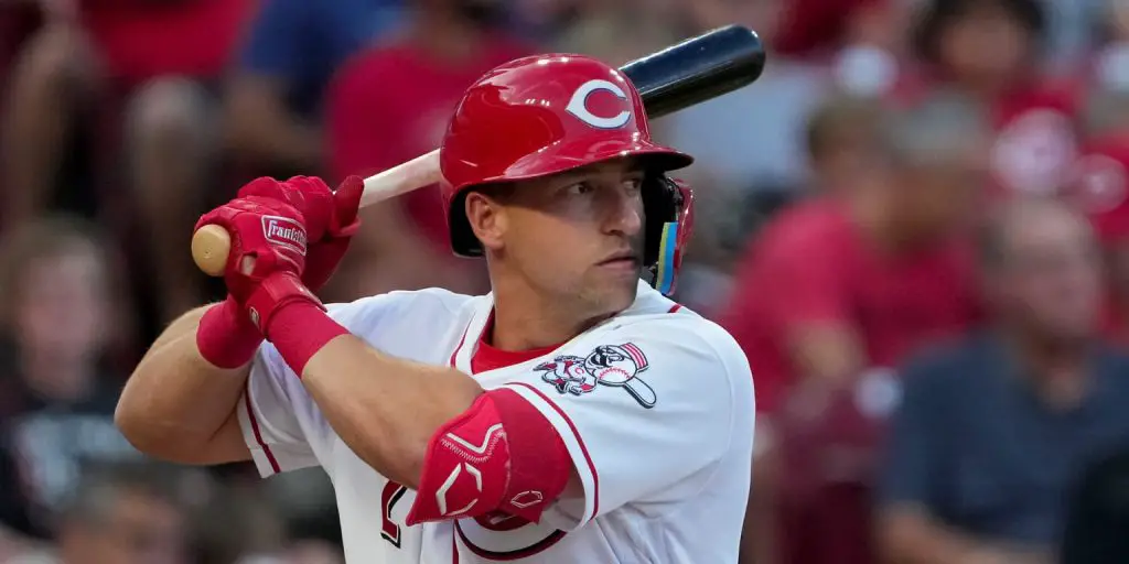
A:
{"type": "MultiPolygon", "coordinates": [[[[439,150],[415,157],[408,162],[365,178],[360,206],[430,186],[443,179],[439,170],[439,150]]],[[[192,259],[209,276],[221,276],[231,252],[231,236],[219,226],[204,226],[192,235],[192,259]]]]}

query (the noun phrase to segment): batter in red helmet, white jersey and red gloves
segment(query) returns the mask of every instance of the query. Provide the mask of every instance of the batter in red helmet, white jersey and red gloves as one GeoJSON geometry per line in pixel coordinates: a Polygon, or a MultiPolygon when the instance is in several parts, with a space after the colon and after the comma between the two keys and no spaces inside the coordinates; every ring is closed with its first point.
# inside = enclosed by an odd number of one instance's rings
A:
{"type": "Polygon", "coordinates": [[[543,55],[466,91],[440,161],[489,294],[323,306],[361,180],[256,179],[198,223],[231,233],[229,296],[152,345],[123,432],[182,464],[324,468],[349,562],[736,562],[752,377],[664,296],[692,203],[665,173],[691,158],[619,70],[543,55]]]}

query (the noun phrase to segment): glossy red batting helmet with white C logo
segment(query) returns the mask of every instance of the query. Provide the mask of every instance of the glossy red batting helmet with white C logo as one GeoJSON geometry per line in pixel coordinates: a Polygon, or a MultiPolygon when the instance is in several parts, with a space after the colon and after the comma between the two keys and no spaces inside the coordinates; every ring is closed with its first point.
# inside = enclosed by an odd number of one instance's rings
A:
{"type": "Polygon", "coordinates": [[[545,54],[510,61],[472,85],[455,109],[440,149],[443,203],[456,255],[481,256],[463,201],[475,186],[531,179],[620,157],[649,173],[645,263],[653,284],[674,290],[682,244],[690,236],[692,193],[664,173],[693,159],[656,144],[642,99],[618,69],[585,55],[545,54]]]}

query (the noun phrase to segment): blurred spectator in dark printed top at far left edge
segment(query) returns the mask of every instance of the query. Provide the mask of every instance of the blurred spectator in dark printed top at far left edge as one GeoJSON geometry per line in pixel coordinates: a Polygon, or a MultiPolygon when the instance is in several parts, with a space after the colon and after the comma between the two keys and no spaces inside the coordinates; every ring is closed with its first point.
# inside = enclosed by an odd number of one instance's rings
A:
{"type": "Polygon", "coordinates": [[[139,456],[114,426],[117,262],[84,223],[26,223],[0,254],[2,527],[46,537],[86,460],[139,456]]]}

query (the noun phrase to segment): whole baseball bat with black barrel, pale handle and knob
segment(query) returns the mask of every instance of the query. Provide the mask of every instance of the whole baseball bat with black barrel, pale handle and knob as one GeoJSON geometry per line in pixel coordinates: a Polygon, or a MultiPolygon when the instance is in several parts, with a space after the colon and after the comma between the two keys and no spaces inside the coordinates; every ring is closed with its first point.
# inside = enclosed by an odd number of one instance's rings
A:
{"type": "MultiPolygon", "coordinates": [[[[651,120],[747,86],[764,70],[764,45],[752,29],[728,25],[691,37],[620,68],[642,98],[651,120]]],[[[361,208],[443,179],[439,149],[365,179],[361,208]]],[[[204,226],[192,237],[192,258],[204,273],[219,276],[231,238],[219,226],[204,226]]]]}

